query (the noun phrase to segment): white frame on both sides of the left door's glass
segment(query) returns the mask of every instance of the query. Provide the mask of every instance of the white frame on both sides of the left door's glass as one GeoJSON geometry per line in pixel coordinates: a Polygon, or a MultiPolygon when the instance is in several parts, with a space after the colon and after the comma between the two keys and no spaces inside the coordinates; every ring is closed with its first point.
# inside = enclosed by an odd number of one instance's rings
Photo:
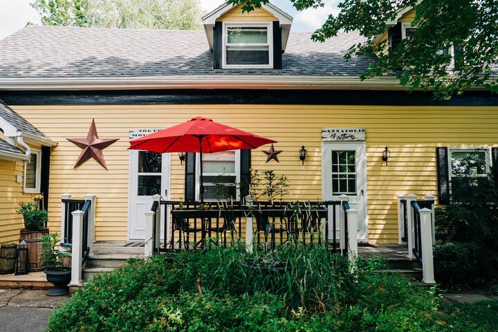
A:
{"type": "MultiPolygon", "coordinates": [[[[130,150],[129,153],[129,176],[128,176],[128,218],[127,218],[127,228],[128,228],[128,241],[131,240],[141,240],[134,239],[131,237],[131,216],[132,216],[132,204],[133,199],[136,197],[136,192],[138,190],[138,151],[140,150],[130,150]]],[[[168,201],[171,192],[171,154],[163,154],[163,159],[161,160],[161,165],[163,172],[161,172],[161,199],[168,201]],[[166,192],[164,192],[166,190],[166,192]]],[[[165,224],[165,216],[167,216],[166,211],[161,211],[161,232],[160,238],[163,240],[163,228],[168,227],[169,223],[165,224]]],[[[145,215],[144,221],[145,221],[145,215]]],[[[169,230],[168,230],[169,231],[169,230]]]]}

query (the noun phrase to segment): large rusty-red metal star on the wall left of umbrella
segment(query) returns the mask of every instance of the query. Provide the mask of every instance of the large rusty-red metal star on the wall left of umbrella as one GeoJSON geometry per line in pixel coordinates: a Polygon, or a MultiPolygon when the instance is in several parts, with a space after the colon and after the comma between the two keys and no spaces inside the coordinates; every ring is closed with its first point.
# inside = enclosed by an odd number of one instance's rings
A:
{"type": "Polygon", "coordinates": [[[102,150],[109,147],[109,145],[113,144],[113,142],[119,140],[119,138],[98,138],[97,128],[95,127],[95,119],[92,119],[89,133],[86,138],[66,138],[66,140],[83,149],[80,156],[76,160],[74,168],[82,165],[86,160],[93,158],[107,170],[102,150]]]}

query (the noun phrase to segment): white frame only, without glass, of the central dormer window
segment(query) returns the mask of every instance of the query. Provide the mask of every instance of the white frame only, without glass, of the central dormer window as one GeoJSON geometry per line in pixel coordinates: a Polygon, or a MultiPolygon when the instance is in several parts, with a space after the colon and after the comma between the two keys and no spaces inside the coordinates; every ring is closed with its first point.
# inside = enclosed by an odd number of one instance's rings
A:
{"type": "Polygon", "coordinates": [[[222,52],[221,61],[222,67],[226,69],[242,69],[242,68],[273,68],[273,21],[264,22],[223,22],[223,36],[222,36],[222,52]],[[268,38],[267,44],[230,44],[230,46],[268,46],[268,64],[227,64],[226,63],[226,50],[228,44],[228,28],[267,28],[268,38]]]}

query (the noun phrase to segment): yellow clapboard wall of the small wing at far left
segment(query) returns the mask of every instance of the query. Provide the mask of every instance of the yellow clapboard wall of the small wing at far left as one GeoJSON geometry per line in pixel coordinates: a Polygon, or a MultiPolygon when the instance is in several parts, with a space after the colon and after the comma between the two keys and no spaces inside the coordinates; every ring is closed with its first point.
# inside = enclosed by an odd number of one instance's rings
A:
{"type": "Polygon", "coordinates": [[[0,159],[0,244],[19,243],[19,230],[24,228],[22,216],[17,214],[19,202],[28,202],[31,194],[24,194],[17,175],[24,175],[24,163],[0,159]]]}

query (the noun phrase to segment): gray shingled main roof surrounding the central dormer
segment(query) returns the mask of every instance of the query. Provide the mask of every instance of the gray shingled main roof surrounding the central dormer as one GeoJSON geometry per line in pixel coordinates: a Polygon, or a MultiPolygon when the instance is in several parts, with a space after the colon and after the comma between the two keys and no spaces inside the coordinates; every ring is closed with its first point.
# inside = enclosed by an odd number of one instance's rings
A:
{"type": "Polygon", "coordinates": [[[358,33],[325,43],[291,33],[282,70],[214,70],[204,31],[27,26],[0,40],[0,77],[163,77],[168,75],[354,75],[372,58],[344,61],[358,33]]]}

